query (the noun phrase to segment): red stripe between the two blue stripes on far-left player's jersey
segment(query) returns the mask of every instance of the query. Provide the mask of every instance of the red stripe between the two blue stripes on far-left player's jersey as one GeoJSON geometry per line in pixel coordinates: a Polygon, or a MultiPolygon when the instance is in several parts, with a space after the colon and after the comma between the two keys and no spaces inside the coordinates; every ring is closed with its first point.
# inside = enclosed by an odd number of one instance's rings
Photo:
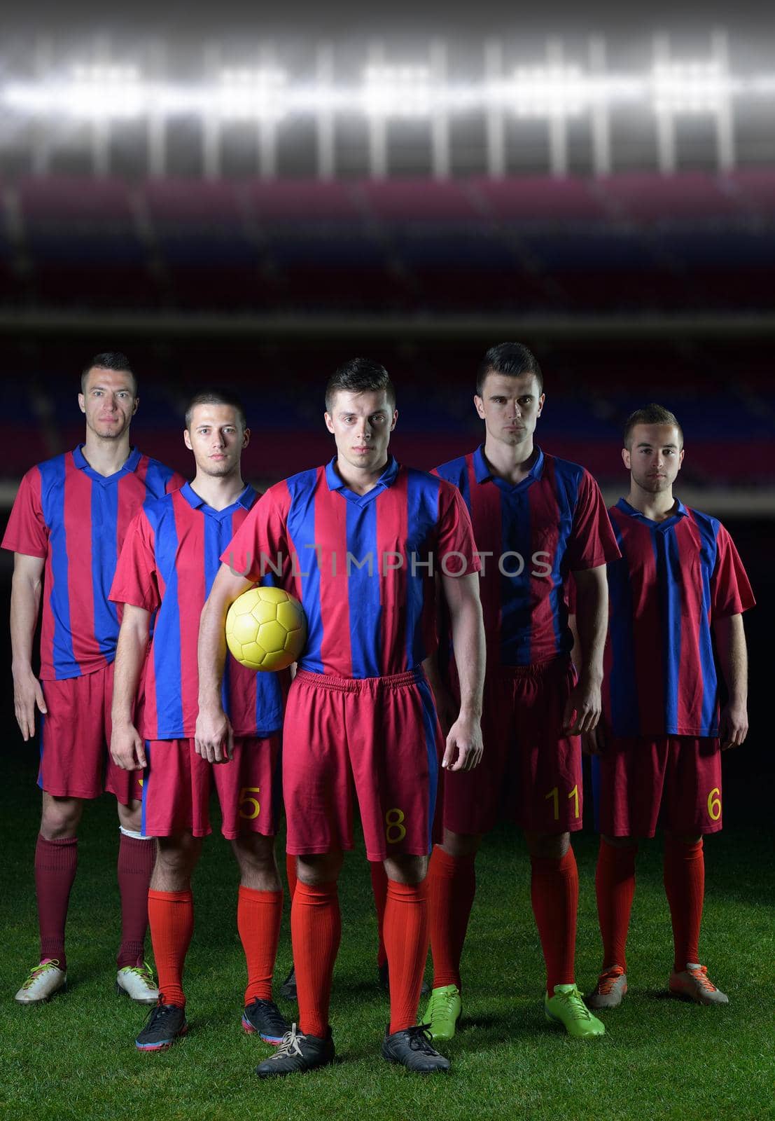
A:
{"type": "Polygon", "coordinates": [[[92,586],[92,487],[78,471],[72,455],[65,456],[64,513],[67,552],[67,599],[69,602],[73,655],[81,671],[99,669],[99,646],[94,636],[94,590],[92,586]]]}

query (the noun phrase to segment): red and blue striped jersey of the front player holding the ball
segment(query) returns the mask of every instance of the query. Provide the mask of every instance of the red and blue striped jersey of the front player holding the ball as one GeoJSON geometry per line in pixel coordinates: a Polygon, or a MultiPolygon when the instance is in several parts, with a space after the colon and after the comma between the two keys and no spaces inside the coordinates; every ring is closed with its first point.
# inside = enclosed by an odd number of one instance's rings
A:
{"type": "Polygon", "coordinates": [[[301,601],[304,669],[407,673],[436,648],[433,573],[478,571],[468,511],[454,487],[393,458],[366,494],[351,491],[334,464],[271,487],[222,560],[301,601]]]}

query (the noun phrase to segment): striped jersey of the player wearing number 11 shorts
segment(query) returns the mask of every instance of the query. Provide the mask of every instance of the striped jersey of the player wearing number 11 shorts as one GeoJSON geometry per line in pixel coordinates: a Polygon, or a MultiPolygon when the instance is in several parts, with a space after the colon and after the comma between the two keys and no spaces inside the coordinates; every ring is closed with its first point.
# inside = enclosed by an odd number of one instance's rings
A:
{"type": "Polygon", "coordinates": [[[494,475],[484,446],[436,469],[463,494],[482,557],[488,666],[525,666],[569,655],[563,584],[569,573],[618,557],[597,483],[567,460],[538,456],[512,484],[494,475]]]}

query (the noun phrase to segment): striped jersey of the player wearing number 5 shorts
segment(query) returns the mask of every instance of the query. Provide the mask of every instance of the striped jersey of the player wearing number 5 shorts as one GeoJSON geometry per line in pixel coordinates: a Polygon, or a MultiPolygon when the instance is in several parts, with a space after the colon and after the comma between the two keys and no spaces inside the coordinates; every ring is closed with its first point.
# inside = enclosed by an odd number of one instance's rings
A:
{"type": "MultiPolygon", "coordinates": [[[[156,613],[143,676],[146,740],[195,734],[199,617],[221,553],[256,499],[245,487],[235,502],[214,510],[186,483],[149,502],[129,527],[111,600],[156,613]]],[[[256,674],[226,656],[221,700],[235,735],[267,736],[282,724],[279,674],[256,674]]]]}

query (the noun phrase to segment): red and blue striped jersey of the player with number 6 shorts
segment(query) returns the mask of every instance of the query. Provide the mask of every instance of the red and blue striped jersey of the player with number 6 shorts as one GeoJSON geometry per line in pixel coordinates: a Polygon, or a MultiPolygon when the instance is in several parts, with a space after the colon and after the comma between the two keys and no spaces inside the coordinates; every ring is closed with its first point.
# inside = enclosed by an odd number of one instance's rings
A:
{"type": "Polygon", "coordinates": [[[711,624],[754,606],[720,521],[681,502],[652,521],[619,499],[608,511],[622,558],[608,565],[604,712],[615,735],[718,735],[711,624]]]}

